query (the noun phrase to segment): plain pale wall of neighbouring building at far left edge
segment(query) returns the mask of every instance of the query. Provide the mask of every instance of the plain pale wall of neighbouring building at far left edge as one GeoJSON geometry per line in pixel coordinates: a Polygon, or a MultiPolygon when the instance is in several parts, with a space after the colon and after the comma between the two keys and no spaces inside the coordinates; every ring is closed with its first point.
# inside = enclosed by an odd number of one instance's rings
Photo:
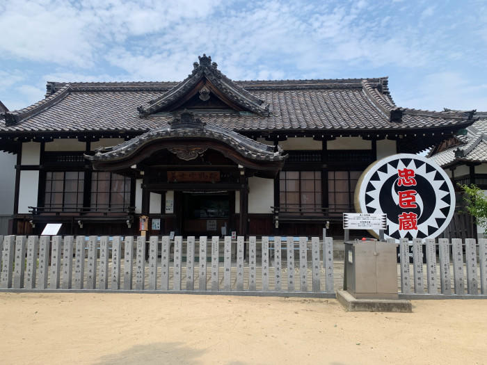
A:
{"type": "Polygon", "coordinates": [[[13,214],[17,155],[0,152],[0,216],[13,214]]]}

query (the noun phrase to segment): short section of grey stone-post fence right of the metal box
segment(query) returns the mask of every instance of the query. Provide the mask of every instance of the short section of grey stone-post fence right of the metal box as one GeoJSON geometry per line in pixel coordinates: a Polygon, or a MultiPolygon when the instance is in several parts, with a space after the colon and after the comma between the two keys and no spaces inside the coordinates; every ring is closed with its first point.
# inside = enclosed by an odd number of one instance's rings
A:
{"type": "Polygon", "coordinates": [[[438,243],[433,238],[415,238],[412,243],[412,264],[409,261],[409,245],[408,238],[399,241],[402,298],[487,298],[487,239],[479,239],[477,244],[473,238],[439,238],[438,243]],[[423,245],[426,248],[426,263],[423,245]]]}

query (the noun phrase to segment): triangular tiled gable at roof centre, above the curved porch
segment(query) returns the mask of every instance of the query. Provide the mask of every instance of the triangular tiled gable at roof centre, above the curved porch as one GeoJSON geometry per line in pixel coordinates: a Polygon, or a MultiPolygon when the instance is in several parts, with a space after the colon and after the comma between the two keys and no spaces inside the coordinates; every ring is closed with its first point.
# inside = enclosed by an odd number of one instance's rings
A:
{"type": "Polygon", "coordinates": [[[228,79],[211,63],[211,57],[198,57],[200,63],[193,63],[193,71],[181,83],[152,100],[149,106],[139,106],[141,117],[161,111],[180,109],[222,109],[250,111],[257,115],[268,116],[269,104],[250,94],[247,90],[228,79]]]}

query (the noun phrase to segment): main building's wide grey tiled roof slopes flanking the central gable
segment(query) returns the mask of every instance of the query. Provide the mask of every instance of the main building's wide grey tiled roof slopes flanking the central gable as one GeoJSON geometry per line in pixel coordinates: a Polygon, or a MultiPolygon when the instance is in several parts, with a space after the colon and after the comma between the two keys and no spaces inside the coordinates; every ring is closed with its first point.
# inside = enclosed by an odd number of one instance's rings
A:
{"type": "MultiPolygon", "coordinates": [[[[215,66],[211,72],[216,71],[215,66]]],[[[230,108],[194,112],[207,124],[235,131],[439,131],[445,127],[466,127],[475,120],[474,111],[431,112],[397,107],[390,97],[387,77],[231,81],[221,74],[221,79],[215,81],[218,82],[225,95],[235,104],[244,105],[248,112],[230,108]]],[[[168,103],[170,95],[181,97],[177,90],[184,88],[186,83],[188,79],[182,83],[49,82],[47,98],[28,108],[7,112],[5,121],[0,120],[0,133],[141,133],[165,127],[173,115],[159,111],[168,103]]]]}

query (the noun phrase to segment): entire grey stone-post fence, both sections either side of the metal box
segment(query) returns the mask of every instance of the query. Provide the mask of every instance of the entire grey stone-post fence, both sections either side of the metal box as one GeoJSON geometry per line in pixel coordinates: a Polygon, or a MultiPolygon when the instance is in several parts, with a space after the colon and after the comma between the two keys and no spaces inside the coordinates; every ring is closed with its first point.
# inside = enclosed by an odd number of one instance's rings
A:
{"type": "MultiPolygon", "coordinates": [[[[342,260],[333,261],[330,237],[324,241],[312,237],[310,243],[299,237],[295,244],[294,237],[264,236],[257,242],[250,236],[245,242],[242,236],[237,240],[227,236],[222,242],[218,236],[201,236],[196,255],[193,236],[173,240],[151,236],[147,263],[146,240],[143,236],[0,236],[0,291],[334,298],[335,290],[341,289],[334,280],[340,283],[342,272],[334,263],[343,268],[342,260]]],[[[399,256],[401,298],[487,298],[487,239],[477,243],[471,238],[439,238],[436,243],[417,238],[411,243],[404,238],[399,256]]]]}

